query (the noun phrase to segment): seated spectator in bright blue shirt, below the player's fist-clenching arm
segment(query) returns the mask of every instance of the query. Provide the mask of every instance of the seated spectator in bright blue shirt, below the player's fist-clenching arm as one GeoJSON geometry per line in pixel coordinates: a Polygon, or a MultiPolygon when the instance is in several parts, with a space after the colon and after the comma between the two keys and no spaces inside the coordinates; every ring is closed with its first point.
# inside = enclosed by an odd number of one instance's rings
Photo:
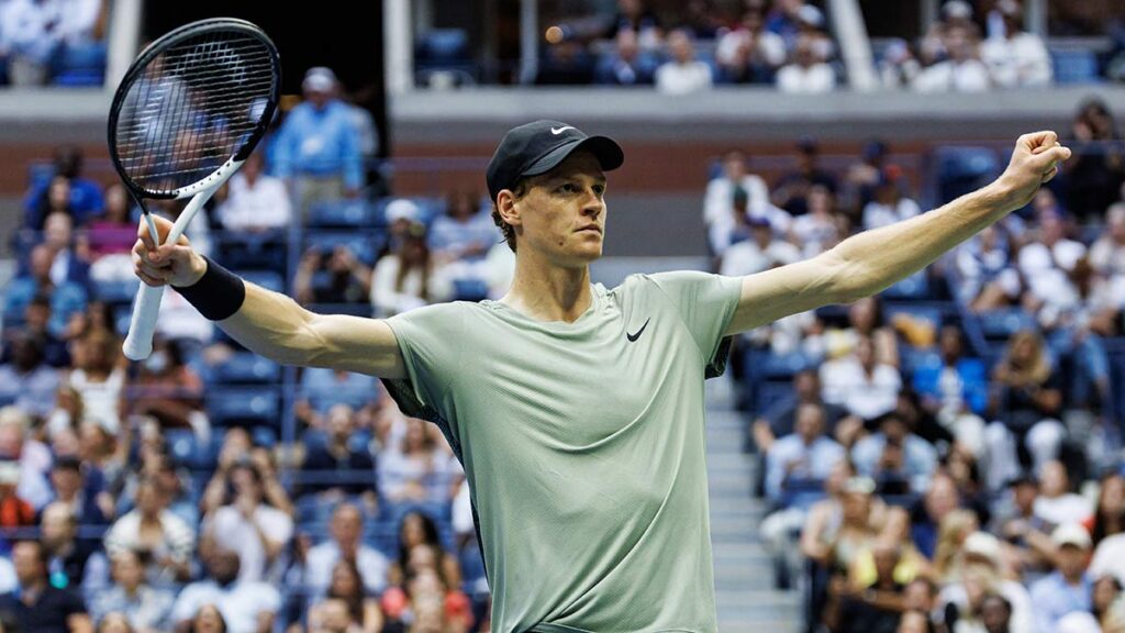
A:
{"type": "Polygon", "coordinates": [[[942,328],[940,362],[915,367],[912,386],[925,411],[935,416],[955,440],[975,457],[984,455],[988,372],[979,358],[966,358],[964,337],[956,326],[942,328]]]}

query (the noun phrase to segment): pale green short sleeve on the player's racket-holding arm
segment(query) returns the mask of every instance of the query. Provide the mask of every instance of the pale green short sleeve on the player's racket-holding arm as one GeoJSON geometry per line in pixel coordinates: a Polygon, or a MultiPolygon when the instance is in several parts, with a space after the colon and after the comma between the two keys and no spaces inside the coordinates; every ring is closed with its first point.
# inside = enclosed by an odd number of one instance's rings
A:
{"type": "Polygon", "coordinates": [[[406,366],[405,380],[384,380],[403,413],[438,422],[464,348],[464,307],[428,305],[386,320],[406,366]]]}

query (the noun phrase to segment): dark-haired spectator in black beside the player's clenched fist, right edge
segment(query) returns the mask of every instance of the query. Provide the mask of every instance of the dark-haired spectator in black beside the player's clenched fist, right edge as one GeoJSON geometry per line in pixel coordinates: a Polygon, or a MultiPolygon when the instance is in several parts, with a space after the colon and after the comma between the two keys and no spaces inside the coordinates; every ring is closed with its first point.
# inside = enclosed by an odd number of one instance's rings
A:
{"type": "Polygon", "coordinates": [[[1105,101],[1083,102],[1071,124],[1073,158],[1063,167],[1066,208],[1080,222],[1100,222],[1125,182],[1125,142],[1105,101]]]}

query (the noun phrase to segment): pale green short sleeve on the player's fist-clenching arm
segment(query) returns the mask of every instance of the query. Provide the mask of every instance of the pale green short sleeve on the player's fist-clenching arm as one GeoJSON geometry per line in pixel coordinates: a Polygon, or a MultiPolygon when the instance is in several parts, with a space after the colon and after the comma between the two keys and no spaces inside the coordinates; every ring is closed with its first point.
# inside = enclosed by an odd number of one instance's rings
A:
{"type": "Polygon", "coordinates": [[[695,345],[708,363],[706,376],[722,374],[730,348],[730,337],[723,337],[735,316],[742,279],[700,271],[658,273],[649,275],[672,301],[695,345]]]}

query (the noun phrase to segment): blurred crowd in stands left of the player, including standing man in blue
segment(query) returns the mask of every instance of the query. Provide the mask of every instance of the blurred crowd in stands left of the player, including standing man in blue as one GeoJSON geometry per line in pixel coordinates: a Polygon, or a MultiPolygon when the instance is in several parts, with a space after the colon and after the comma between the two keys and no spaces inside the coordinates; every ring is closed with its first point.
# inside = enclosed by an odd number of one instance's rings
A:
{"type": "MultiPolygon", "coordinates": [[[[320,311],[503,293],[484,200],[377,196],[370,115],[326,68],[303,89],[192,243],[320,311]]],[[[460,465],[377,380],[258,358],[176,293],[123,357],[140,209],[102,176],[33,170],[0,295],[0,631],[487,630],[460,465]]]]}

